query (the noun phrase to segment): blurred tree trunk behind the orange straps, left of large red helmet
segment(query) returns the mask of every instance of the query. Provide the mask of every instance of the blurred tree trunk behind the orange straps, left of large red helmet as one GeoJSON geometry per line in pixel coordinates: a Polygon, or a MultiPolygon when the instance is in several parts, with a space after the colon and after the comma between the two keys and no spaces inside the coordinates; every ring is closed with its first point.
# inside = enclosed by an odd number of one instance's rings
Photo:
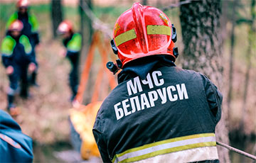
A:
{"type": "MultiPolygon", "coordinates": [[[[92,9],[92,1],[91,0],[80,0],[79,1],[79,12],[80,12],[80,32],[82,35],[82,50],[80,52],[80,65],[83,65],[85,63],[85,59],[87,57],[87,51],[90,47],[90,43],[92,40],[92,33],[93,33],[93,29],[92,29],[92,20],[89,16],[87,16],[87,14],[85,13],[84,10],[87,9],[92,9]]],[[[82,72],[82,66],[80,66],[80,72],[82,72]]],[[[92,74],[90,74],[89,77],[89,81],[88,81],[88,89],[87,89],[87,94],[85,94],[85,97],[83,98],[84,103],[90,103],[90,99],[92,96],[92,86],[90,86],[92,84],[92,74]]]]}

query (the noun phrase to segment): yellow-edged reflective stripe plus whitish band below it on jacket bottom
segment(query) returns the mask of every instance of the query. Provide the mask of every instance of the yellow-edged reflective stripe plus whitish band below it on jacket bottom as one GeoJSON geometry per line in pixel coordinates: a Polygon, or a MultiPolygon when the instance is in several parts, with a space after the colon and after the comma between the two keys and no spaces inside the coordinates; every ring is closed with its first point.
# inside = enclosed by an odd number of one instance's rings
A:
{"type": "Polygon", "coordinates": [[[176,137],[116,154],[112,162],[198,162],[218,159],[215,146],[214,133],[176,137]]]}

